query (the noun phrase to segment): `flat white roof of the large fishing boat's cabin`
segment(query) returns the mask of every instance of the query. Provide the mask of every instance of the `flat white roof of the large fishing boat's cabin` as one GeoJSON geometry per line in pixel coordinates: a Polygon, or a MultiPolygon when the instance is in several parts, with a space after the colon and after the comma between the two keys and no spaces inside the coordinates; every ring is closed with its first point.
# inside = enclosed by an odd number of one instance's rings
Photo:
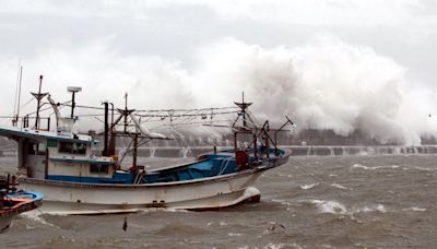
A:
{"type": "Polygon", "coordinates": [[[57,141],[75,142],[75,143],[98,143],[98,140],[93,140],[91,135],[71,134],[60,135],[52,131],[32,130],[26,128],[4,127],[0,126],[0,135],[7,138],[27,138],[33,140],[51,139],[57,141]]]}

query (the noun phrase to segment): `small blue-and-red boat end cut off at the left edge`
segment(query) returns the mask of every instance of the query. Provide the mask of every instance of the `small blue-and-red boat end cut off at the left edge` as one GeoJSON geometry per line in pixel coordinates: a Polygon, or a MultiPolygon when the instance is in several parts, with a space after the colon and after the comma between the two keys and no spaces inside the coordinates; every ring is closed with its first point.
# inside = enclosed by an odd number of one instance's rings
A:
{"type": "Polygon", "coordinates": [[[39,192],[17,191],[10,189],[9,176],[3,177],[0,191],[0,233],[4,233],[12,218],[23,212],[35,210],[43,204],[43,194],[39,192]]]}

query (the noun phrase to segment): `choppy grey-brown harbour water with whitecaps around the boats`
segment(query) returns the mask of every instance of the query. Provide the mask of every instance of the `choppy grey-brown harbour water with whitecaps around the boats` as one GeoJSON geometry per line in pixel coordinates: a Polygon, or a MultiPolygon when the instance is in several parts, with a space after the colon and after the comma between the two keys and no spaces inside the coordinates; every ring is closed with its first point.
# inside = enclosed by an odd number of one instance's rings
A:
{"type": "Polygon", "coordinates": [[[258,180],[260,203],[220,212],[21,216],[0,235],[0,247],[436,248],[436,161],[295,157],[258,180]]]}

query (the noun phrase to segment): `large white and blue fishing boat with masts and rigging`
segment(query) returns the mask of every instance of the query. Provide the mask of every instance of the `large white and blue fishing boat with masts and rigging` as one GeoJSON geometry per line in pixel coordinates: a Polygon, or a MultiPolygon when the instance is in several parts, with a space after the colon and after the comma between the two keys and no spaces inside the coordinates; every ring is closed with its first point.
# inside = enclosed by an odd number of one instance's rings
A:
{"type": "MultiPolygon", "coordinates": [[[[24,171],[20,185],[26,191],[44,193],[42,211],[45,213],[106,214],[150,208],[217,210],[259,201],[260,191],[253,187],[257,178],[286,163],[291,154],[279,149],[275,142],[277,132],[291,120],[276,130],[268,121],[257,126],[246,110],[250,104],[243,102],[236,103],[240,110],[231,126],[235,134],[233,150],[214,147],[193,162],[146,169],[137,164],[138,139],[168,138],[141,127],[127,103],[125,109],[117,109],[120,116],[110,126],[108,105],[105,105],[104,151],[97,155],[95,146],[99,141],[79,134],[73,115],[62,117],[59,104],[49,94],[39,92],[34,96],[38,99],[37,109],[39,100],[47,97],[56,115],[56,129],[50,130],[49,126],[42,129],[37,111],[34,127],[27,117],[22,127],[0,127],[0,135],[17,142],[19,168],[24,171]],[[116,130],[120,121],[125,122],[123,131],[116,130]],[[128,130],[128,123],[134,123],[133,132],[128,130]],[[240,134],[250,138],[245,147],[237,142],[240,134]],[[115,135],[133,140],[133,163],[129,169],[121,169],[117,156],[110,156],[115,154],[115,135]]],[[[71,106],[73,114],[74,100],[71,106]]]]}

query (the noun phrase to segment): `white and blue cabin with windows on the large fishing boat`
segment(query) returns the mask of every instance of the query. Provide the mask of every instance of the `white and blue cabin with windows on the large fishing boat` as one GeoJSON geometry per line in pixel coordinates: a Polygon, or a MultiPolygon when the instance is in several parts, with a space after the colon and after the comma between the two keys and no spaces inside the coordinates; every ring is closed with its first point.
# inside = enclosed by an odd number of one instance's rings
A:
{"type": "Polygon", "coordinates": [[[19,168],[27,177],[47,180],[126,183],[131,174],[116,170],[117,162],[93,153],[99,141],[91,135],[0,127],[0,134],[19,143],[19,168]]]}

